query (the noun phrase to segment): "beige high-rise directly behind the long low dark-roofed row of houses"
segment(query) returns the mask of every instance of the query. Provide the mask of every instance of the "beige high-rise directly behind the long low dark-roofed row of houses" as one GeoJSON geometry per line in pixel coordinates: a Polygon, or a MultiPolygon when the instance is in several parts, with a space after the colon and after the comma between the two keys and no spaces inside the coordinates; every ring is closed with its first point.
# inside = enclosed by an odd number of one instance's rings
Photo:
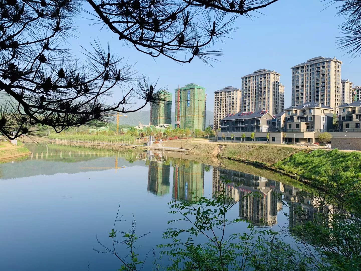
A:
{"type": "Polygon", "coordinates": [[[242,77],[241,110],[255,112],[267,110],[277,115],[284,107],[284,86],[280,74],[274,70],[260,69],[242,77]]]}

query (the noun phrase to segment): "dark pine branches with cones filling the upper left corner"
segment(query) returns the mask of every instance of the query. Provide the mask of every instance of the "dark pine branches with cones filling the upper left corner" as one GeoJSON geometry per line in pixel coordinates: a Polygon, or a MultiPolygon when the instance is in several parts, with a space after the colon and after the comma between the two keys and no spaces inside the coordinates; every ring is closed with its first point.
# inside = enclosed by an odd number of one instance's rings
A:
{"type": "Polygon", "coordinates": [[[95,42],[80,63],[71,55],[78,0],[0,1],[0,134],[14,139],[53,128],[96,125],[114,112],[134,112],[159,96],[156,83],[95,42]],[[121,98],[104,103],[111,90],[121,98]],[[132,108],[135,97],[144,100],[132,108]]]}

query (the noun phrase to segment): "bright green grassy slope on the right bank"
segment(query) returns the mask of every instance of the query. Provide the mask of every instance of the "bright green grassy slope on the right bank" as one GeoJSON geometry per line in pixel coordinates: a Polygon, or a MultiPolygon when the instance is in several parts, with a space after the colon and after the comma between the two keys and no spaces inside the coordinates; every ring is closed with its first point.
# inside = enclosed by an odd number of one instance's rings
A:
{"type": "Polygon", "coordinates": [[[361,180],[361,153],[314,150],[300,151],[274,164],[274,167],[306,178],[324,182],[332,174],[340,180],[361,180]]]}

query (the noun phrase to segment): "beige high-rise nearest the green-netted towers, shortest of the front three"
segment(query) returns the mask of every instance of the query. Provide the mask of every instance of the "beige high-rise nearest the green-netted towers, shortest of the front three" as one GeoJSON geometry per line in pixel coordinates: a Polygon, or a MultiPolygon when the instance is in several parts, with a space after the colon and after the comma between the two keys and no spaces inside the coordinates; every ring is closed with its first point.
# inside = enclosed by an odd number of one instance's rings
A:
{"type": "Polygon", "coordinates": [[[221,119],[241,111],[241,97],[242,91],[231,86],[214,91],[214,129],[221,126],[221,119]]]}

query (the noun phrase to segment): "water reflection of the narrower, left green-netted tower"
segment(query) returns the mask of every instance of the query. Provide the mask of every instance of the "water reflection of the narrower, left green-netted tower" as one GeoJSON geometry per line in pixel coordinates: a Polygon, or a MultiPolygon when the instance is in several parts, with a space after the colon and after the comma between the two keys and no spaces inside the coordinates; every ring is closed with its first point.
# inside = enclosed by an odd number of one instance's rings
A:
{"type": "Polygon", "coordinates": [[[169,194],[170,165],[150,161],[148,169],[148,191],[155,195],[169,194]]]}

